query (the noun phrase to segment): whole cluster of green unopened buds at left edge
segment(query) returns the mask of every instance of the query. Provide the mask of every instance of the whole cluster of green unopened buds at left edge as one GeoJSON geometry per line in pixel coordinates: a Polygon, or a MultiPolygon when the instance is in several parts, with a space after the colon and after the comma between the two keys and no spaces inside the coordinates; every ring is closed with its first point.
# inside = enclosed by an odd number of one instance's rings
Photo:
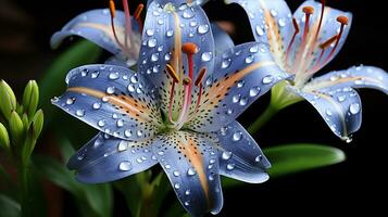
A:
{"type": "Polygon", "coordinates": [[[39,88],[28,81],[22,103],[12,88],[0,81],[0,148],[26,163],[43,127],[43,112],[37,111],[39,88]]]}

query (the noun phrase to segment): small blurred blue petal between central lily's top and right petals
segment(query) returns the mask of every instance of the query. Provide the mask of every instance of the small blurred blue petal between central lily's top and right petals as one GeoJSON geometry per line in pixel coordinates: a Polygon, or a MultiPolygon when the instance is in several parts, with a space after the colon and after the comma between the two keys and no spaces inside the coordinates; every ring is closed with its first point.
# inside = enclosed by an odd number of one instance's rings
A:
{"type": "Polygon", "coordinates": [[[222,29],[217,24],[211,24],[213,36],[214,36],[214,43],[215,43],[215,52],[216,55],[223,54],[228,49],[235,47],[230,36],[222,29]]]}

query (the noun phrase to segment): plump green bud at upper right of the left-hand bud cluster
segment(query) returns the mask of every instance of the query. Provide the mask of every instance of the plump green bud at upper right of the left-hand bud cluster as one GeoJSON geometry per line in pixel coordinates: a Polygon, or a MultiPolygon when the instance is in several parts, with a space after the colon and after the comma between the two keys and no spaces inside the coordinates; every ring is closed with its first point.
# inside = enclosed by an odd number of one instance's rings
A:
{"type": "Polygon", "coordinates": [[[39,87],[35,80],[29,80],[23,93],[24,111],[32,118],[36,112],[39,102],[39,87]]]}

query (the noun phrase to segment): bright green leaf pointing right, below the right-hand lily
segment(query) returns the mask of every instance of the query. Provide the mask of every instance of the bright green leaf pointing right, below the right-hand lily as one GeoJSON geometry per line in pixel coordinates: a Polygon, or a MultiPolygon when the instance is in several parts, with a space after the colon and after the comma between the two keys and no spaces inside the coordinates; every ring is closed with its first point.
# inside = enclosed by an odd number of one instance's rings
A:
{"type": "Polygon", "coordinates": [[[337,148],[310,143],[267,148],[264,153],[272,163],[270,177],[329,166],[346,159],[345,153],[337,148]]]}

